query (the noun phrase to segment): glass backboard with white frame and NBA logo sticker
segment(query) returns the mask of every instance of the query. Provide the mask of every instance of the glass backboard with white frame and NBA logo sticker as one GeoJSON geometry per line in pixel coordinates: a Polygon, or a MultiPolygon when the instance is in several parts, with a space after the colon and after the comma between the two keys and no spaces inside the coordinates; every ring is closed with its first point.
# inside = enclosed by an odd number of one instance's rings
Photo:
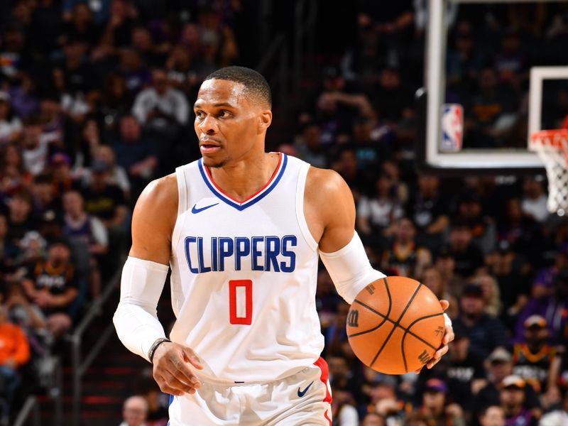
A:
{"type": "Polygon", "coordinates": [[[566,3],[428,2],[425,89],[417,93],[422,169],[501,175],[544,171],[528,141],[534,131],[561,126],[568,114],[566,40],[555,40],[550,31],[555,13],[567,11],[566,3]],[[528,13],[526,21],[541,23],[540,33],[522,23],[508,26],[517,19],[517,9],[519,20],[528,13]],[[464,67],[469,67],[466,72],[464,67]]]}

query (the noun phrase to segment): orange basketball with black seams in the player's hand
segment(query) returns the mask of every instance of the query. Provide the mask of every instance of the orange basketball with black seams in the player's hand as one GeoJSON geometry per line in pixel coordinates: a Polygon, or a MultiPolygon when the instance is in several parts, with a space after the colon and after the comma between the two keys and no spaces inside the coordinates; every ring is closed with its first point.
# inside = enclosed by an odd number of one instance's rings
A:
{"type": "Polygon", "coordinates": [[[426,364],[442,344],[444,315],[425,285],[386,277],[359,292],[346,327],[351,348],[366,366],[404,374],[426,364]]]}

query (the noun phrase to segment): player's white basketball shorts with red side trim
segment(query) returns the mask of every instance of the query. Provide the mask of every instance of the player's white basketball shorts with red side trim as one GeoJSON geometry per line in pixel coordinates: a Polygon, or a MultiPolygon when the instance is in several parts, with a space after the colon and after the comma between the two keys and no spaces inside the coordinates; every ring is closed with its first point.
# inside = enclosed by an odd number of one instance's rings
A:
{"type": "Polygon", "coordinates": [[[331,426],[327,363],[266,383],[202,381],[196,393],[170,396],[170,426],[331,426]]]}

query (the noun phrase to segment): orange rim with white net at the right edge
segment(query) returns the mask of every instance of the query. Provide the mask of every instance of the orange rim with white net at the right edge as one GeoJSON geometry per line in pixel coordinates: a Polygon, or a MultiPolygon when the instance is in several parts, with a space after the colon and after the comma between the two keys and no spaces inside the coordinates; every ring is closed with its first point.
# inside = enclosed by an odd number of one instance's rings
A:
{"type": "Polygon", "coordinates": [[[542,130],[530,136],[530,151],[545,163],[548,177],[548,210],[568,213],[568,129],[542,130]]]}

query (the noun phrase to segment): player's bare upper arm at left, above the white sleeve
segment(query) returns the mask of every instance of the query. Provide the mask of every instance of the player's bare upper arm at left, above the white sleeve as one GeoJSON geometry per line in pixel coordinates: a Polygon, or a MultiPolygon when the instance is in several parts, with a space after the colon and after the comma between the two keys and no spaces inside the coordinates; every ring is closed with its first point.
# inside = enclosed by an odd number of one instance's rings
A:
{"type": "Polygon", "coordinates": [[[146,187],[132,215],[129,256],[164,265],[169,263],[177,203],[177,192],[172,192],[165,182],[151,182],[146,187]]]}

